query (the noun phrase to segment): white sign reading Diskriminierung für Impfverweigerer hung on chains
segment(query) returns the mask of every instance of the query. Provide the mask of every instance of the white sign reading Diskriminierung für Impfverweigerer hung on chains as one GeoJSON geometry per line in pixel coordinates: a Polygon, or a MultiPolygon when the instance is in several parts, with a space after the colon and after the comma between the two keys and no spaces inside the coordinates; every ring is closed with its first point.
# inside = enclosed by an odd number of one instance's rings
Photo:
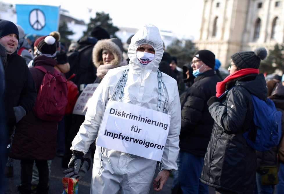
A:
{"type": "Polygon", "coordinates": [[[129,103],[109,101],[96,145],[161,161],[170,115],[129,103]]]}

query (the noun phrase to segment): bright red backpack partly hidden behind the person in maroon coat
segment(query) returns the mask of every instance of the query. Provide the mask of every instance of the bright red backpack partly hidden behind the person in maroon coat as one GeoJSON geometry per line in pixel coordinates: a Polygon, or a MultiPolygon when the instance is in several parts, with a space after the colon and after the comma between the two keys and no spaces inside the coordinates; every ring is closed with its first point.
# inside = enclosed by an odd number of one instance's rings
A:
{"type": "Polygon", "coordinates": [[[71,78],[73,78],[75,74],[72,74],[68,79],[67,79],[67,87],[68,87],[68,94],[67,94],[67,106],[65,109],[65,114],[70,114],[73,112],[74,106],[76,104],[76,101],[79,96],[79,90],[78,86],[73,82],[70,81],[71,78]]]}

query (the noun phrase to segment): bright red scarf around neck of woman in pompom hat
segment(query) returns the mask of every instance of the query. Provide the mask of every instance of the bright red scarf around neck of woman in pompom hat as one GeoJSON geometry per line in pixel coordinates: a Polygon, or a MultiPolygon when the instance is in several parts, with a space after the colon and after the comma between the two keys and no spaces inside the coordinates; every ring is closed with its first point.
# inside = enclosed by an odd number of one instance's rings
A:
{"type": "Polygon", "coordinates": [[[219,97],[225,92],[225,85],[228,81],[231,81],[233,79],[236,79],[238,77],[245,76],[245,75],[248,75],[248,74],[258,74],[258,73],[259,73],[258,69],[247,68],[247,69],[238,70],[235,73],[228,75],[223,81],[217,82],[216,96],[219,97]]]}

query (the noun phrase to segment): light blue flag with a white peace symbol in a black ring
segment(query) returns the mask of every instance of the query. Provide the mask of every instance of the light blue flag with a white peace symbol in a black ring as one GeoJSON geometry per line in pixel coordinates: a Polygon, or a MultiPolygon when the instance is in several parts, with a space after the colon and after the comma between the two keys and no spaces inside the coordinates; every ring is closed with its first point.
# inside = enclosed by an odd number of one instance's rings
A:
{"type": "Polygon", "coordinates": [[[58,31],[60,6],[16,4],[17,24],[25,34],[48,35],[58,31]]]}

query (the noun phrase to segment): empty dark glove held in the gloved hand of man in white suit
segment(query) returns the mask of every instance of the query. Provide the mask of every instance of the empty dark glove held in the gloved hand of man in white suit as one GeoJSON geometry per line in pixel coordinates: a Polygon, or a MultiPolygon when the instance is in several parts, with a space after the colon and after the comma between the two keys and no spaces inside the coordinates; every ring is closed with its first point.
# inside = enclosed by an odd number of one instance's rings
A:
{"type": "Polygon", "coordinates": [[[75,173],[75,168],[70,167],[66,170],[63,171],[63,173],[67,173],[65,177],[69,178],[76,178],[78,180],[81,180],[82,178],[85,177],[87,171],[90,169],[91,166],[91,160],[89,158],[84,158],[82,160],[82,165],[80,165],[80,169],[78,173],[75,173]]]}

